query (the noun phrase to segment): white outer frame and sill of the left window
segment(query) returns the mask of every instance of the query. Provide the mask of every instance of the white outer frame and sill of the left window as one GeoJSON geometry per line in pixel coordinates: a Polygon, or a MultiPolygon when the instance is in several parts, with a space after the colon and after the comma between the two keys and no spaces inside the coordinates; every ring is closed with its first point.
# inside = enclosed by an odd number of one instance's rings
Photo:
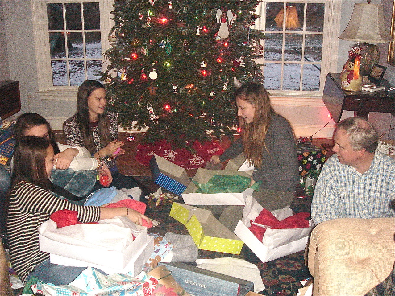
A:
{"type": "MultiPolygon", "coordinates": [[[[110,12],[113,11],[114,1],[111,0],[36,0],[31,1],[34,43],[36,52],[36,65],[38,74],[38,90],[40,99],[49,100],[76,100],[78,86],[53,86],[51,69],[51,52],[49,49],[47,3],[80,3],[99,2],[100,32],[102,54],[111,46],[107,35],[114,25],[110,12]]],[[[107,67],[102,55],[102,69],[107,67]]]]}

